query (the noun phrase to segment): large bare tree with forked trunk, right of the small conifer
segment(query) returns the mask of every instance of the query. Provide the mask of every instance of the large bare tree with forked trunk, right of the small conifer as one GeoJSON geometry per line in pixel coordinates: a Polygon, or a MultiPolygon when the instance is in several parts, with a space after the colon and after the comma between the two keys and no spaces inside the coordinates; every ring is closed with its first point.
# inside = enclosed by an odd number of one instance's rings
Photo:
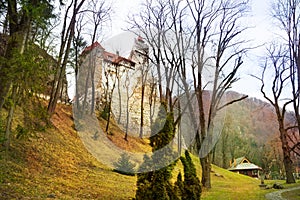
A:
{"type": "Polygon", "coordinates": [[[242,96],[222,102],[226,91],[238,81],[237,72],[248,49],[243,47],[247,41],[240,37],[247,29],[241,26],[240,21],[247,12],[247,1],[187,1],[187,4],[194,23],[192,35],[196,38],[191,64],[199,112],[195,143],[202,166],[201,182],[204,187],[210,188],[210,150],[216,142],[212,141],[216,116],[223,108],[247,98],[242,96]],[[204,70],[208,67],[212,70],[212,78],[211,82],[205,83],[204,70]],[[212,89],[207,113],[203,92],[208,85],[212,89]]]}

